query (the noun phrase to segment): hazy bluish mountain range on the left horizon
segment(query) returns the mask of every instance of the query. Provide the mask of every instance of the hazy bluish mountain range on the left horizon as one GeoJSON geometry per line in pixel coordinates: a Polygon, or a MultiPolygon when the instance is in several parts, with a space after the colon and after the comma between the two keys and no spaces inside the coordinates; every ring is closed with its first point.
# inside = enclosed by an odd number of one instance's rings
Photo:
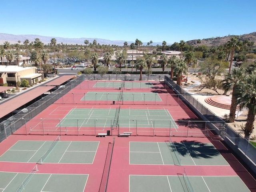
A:
{"type": "MultiPolygon", "coordinates": [[[[10,44],[16,44],[18,41],[21,41],[23,44],[24,40],[28,39],[30,42],[34,41],[35,38],[39,38],[44,44],[48,44],[51,42],[52,38],[56,38],[57,43],[63,44],[78,44],[78,45],[85,45],[84,40],[88,40],[90,43],[93,42],[95,39],[99,44],[105,45],[118,45],[124,46],[125,40],[107,40],[107,39],[99,39],[99,38],[62,38],[62,37],[48,37],[48,36],[40,36],[40,35],[13,35],[13,34],[4,34],[0,33],[0,45],[4,44],[5,41],[10,42],[10,44]]],[[[134,43],[131,41],[127,41],[128,44],[134,43]]],[[[144,42],[143,45],[146,45],[147,42],[144,42]]],[[[152,45],[162,45],[162,42],[153,42],[152,45]]]]}

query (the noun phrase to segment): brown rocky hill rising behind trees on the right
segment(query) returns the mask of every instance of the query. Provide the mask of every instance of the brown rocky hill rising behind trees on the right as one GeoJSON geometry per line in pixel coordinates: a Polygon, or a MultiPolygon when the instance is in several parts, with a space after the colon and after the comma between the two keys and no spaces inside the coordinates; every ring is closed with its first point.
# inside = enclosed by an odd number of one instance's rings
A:
{"type": "MultiPolygon", "coordinates": [[[[224,36],[224,37],[215,37],[215,38],[207,38],[202,39],[201,43],[199,45],[206,45],[206,46],[220,46],[225,44],[230,40],[230,38],[234,35],[224,36]]],[[[254,46],[256,45],[256,32],[252,32],[250,34],[244,34],[238,36],[239,40],[248,40],[254,42],[254,46]]],[[[197,45],[197,39],[196,40],[190,40],[186,42],[189,45],[197,45]]]]}

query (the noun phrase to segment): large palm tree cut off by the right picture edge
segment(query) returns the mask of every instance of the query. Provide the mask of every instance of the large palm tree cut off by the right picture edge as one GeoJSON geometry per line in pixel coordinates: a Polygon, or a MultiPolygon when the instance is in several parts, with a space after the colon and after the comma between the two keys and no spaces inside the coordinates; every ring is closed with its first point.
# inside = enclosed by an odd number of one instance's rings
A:
{"type": "Polygon", "coordinates": [[[236,86],[235,96],[237,98],[237,104],[240,105],[240,109],[248,108],[247,121],[242,128],[244,131],[244,138],[250,140],[250,134],[254,129],[254,118],[256,115],[256,72],[252,72],[244,76],[242,81],[239,81],[236,86]]]}

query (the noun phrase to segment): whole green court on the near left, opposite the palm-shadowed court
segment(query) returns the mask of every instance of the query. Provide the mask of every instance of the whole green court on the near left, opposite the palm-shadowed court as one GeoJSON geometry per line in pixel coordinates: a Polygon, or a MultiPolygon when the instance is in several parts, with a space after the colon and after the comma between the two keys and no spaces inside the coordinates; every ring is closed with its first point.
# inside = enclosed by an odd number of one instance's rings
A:
{"type": "Polygon", "coordinates": [[[92,164],[99,142],[56,141],[52,144],[52,141],[18,141],[0,156],[0,161],[92,164]]]}

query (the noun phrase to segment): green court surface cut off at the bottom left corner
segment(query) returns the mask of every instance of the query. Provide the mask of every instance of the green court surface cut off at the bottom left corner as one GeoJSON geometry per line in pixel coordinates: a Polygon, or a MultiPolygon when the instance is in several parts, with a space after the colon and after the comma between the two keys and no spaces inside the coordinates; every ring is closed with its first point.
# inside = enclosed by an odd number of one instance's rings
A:
{"type": "Polygon", "coordinates": [[[84,192],[87,179],[88,174],[0,172],[0,192],[84,192]]]}

